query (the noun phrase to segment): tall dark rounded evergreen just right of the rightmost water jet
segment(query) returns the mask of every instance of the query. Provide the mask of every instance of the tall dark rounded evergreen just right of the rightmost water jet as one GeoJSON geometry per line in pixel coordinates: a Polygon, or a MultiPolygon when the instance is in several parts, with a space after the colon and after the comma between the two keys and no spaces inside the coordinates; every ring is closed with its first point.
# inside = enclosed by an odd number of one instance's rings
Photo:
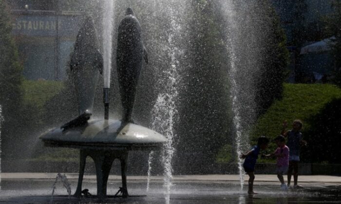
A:
{"type": "Polygon", "coordinates": [[[255,101],[259,114],[263,113],[275,99],[280,99],[283,82],[287,75],[289,52],[280,19],[268,0],[260,0],[255,15],[258,16],[257,33],[262,38],[260,68],[255,76],[255,101]]]}

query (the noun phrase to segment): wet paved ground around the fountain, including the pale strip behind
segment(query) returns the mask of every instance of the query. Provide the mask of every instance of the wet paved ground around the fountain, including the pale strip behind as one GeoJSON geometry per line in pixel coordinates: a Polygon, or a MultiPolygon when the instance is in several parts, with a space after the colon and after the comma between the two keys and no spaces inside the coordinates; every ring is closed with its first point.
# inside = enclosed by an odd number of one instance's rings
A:
{"type": "MultiPolygon", "coordinates": [[[[57,173],[1,173],[0,204],[2,203],[171,203],[171,204],[290,204],[290,203],[341,203],[341,177],[300,176],[304,189],[281,191],[276,175],[256,175],[255,190],[248,196],[247,186],[241,190],[239,175],[184,175],[174,176],[167,199],[162,176],[152,176],[147,192],[146,176],[129,176],[128,199],[108,198],[77,199],[67,196],[65,188],[58,183],[56,196],[51,197],[52,184],[57,173]]],[[[72,191],[76,189],[77,174],[66,173],[72,191]]],[[[245,177],[247,179],[247,176],[245,177]]],[[[108,195],[114,195],[120,184],[120,176],[112,175],[108,182],[108,195]]],[[[86,175],[83,188],[96,192],[95,175],[86,175]]]]}

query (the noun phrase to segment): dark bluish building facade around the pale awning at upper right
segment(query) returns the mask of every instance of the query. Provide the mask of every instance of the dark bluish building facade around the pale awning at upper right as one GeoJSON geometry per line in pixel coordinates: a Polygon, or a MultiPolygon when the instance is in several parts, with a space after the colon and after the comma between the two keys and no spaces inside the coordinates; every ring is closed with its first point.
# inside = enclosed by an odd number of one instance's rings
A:
{"type": "Polygon", "coordinates": [[[324,34],[323,18],[333,12],[334,0],[272,0],[281,19],[290,51],[288,81],[313,83],[330,75],[333,61],[328,51],[301,53],[301,49],[332,36],[324,34]]]}

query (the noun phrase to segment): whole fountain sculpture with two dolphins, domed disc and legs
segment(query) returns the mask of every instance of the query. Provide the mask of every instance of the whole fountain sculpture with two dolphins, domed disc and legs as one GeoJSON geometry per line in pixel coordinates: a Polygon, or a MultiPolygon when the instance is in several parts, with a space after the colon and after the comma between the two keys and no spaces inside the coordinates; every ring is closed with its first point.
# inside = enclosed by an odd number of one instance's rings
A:
{"type": "MultiPolygon", "coordinates": [[[[109,119],[109,91],[106,91],[109,88],[109,82],[105,81],[105,118],[90,119],[98,72],[102,72],[103,59],[98,51],[94,21],[91,17],[86,17],[78,32],[75,51],[71,60],[80,115],[60,128],[57,127],[40,136],[45,146],[79,149],[79,178],[74,194],[76,197],[80,197],[83,192],[82,181],[87,156],[95,161],[97,197],[104,199],[107,196],[108,177],[116,158],[121,162],[122,187],[119,191],[123,197],[128,197],[126,172],[129,151],[156,150],[166,142],[164,136],[134,124],[131,120],[135,101],[135,92],[131,90],[136,87],[141,69],[139,66],[142,65],[142,53],[145,52],[142,50],[142,46],[140,50],[136,49],[142,45],[142,41],[140,25],[133,16],[132,9],[127,9],[126,17],[122,20],[118,30],[117,67],[120,71],[121,99],[123,105],[126,105],[124,118],[122,120],[109,119]],[[137,32],[133,33],[134,31],[137,32]],[[122,35],[120,35],[121,33],[122,35]],[[137,51],[137,53],[133,53],[133,51],[137,51]],[[141,54],[138,55],[140,51],[141,54]],[[137,74],[133,75],[132,73],[135,70],[137,70],[137,74]]],[[[110,31],[107,32],[110,33],[110,31]]],[[[144,59],[148,62],[146,55],[144,55],[144,59]]],[[[110,63],[108,64],[110,65],[110,63]]],[[[107,68],[110,67],[109,65],[107,68]]],[[[109,74],[108,72],[104,72],[104,74],[109,74]]],[[[107,78],[107,76],[104,77],[107,78]]]]}

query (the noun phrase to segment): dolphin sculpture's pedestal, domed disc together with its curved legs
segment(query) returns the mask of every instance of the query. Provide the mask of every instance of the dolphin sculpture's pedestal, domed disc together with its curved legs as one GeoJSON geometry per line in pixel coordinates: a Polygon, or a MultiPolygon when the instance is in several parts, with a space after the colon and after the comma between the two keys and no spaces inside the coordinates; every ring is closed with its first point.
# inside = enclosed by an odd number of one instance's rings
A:
{"type": "Polygon", "coordinates": [[[120,120],[91,119],[87,124],[66,131],[55,128],[39,137],[45,146],[80,149],[79,178],[75,196],[80,197],[86,157],[94,159],[97,177],[97,197],[107,196],[107,182],[114,159],[121,162],[122,195],[128,197],[127,161],[131,150],[159,149],[166,138],[140,125],[128,123],[123,128],[120,120]]]}

